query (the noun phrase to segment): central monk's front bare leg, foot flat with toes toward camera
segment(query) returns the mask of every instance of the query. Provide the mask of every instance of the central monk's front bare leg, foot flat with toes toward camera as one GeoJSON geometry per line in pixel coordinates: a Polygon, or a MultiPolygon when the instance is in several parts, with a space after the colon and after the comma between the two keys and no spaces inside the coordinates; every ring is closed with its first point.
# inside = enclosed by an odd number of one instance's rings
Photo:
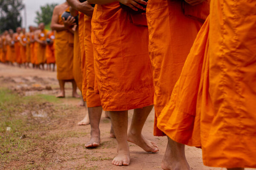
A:
{"type": "Polygon", "coordinates": [[[109,115],[118,143],[118,155],[113,159],[112,164],[128,166],[131,160],[127,142],[128,111],[110,111],[109,115]]]}

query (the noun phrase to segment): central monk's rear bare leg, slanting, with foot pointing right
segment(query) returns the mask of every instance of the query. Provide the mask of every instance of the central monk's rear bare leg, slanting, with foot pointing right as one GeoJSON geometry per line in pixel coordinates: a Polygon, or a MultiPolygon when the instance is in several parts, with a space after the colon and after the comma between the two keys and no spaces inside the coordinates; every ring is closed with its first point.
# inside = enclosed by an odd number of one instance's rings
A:
{"type": "Polygon", "coordinates": [[[159,151],[157,144],[151,142],[142,135],[142,128],[145,124],[148,114],[151,112],[153,105],[141,109],[134,109],[134,115],[131,121],[131,127],[128,132],[128,141],[137,144],[146,152],[159,151]]]}

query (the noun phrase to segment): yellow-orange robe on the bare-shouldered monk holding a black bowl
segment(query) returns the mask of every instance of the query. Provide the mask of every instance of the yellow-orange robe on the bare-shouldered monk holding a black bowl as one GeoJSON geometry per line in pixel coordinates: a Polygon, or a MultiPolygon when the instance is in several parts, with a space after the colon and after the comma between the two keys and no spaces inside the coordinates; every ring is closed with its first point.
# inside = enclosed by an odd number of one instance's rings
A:
{"type": "MultiPolygon", "coordinates": [[[[59,15],[59,24],[64,24],[59,15]]],[[[73,77],[73,41],[74,35],[68,30],[55,33],[55,57],[57,65],[57,79],[70,80],[73,77]]]]}

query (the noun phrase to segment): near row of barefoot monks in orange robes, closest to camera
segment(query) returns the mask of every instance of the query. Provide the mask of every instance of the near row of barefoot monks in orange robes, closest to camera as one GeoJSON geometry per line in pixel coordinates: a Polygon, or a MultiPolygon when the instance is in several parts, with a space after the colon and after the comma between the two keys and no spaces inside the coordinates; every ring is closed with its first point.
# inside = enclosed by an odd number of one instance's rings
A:
{"type": "Polygon", "coordinates": [[[189,170],[185,145],[200,147],[207,166],[256,168],[255,16],[255,0],[67,0],[56,6],[59,96],[74,79],[88,107],[85,147],[100,145],[104,110],[118,143],[112,164],[130,164],[128,141],[158,152],[142,134],[154,105],[154,136],[168,136],[164,170],[189,170]],[[78,24],[62,18],[65,11],[78,15],[78,24]]]}

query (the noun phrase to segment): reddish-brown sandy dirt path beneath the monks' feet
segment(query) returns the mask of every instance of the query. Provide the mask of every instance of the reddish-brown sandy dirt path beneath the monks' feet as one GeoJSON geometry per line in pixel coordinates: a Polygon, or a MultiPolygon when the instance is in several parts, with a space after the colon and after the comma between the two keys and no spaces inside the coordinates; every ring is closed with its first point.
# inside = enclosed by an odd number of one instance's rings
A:
{"type": "MultiPolygon", "coordinates": [[[[12,89],[24,91],[23,95],[33,95],[35,93],[45,93],[55,95],[58,90],[56,72],[41,71],[35,69],[18,68],[0,64],[0,78],[5,84],[9,83],[12,89]],[[52,90],[46,90],[46,86],[51,86],[52,90]]],[[[3,84],[0,84],[0,88],[3,84]]],[[[67,98],[61,102],[76,106],[79,99],[71,98],[71,85],[67,85],[67,98]]],[[[160,151],[158,153],[146,153],[140,147],[130,144],[131,164],[128,167],[116,167],[111,164],[111,160],[116,156],[116,140],[109,137],[111,122],[104,117],[100,123],[101,146],[96,149],[86,149],[84,144],[90,138],[90,125],[78,126],[77,122],[83,119],[87,112],[85,107],[79,107],[77,113],[72,113],[68,119],[62,120],[55,129],[49,133],[61,133],[63,131],[77,131],[85,136],[67,137],[55,142],[50,148],[53,151],[51,164],[47,170],[161,170],[160,164],[166,148],[166,137],[153,136],[154,110],[151,111],[145,123],[143,134],[146,138],[157,142],[160,151]]],[[[132,111],[129,111],[129,122],[131,122],[132,111]]],[[[33,154],[31,160],[33,160],[33,154]]],[[[201,149],[186,147],[186,157],[191,170],[221,170],[221,168],[206,167],[202,162],[201,149]]],[[[48,160],[49,161],[49,160],[48,160]]],[[[171,161],[171,160],[170,160],[171,161]]],[[[13,167],[22,167],[27,162],[16,161],[13,167]]],[[[224,168],[222,168],[224,170],[224,168]]]]}

